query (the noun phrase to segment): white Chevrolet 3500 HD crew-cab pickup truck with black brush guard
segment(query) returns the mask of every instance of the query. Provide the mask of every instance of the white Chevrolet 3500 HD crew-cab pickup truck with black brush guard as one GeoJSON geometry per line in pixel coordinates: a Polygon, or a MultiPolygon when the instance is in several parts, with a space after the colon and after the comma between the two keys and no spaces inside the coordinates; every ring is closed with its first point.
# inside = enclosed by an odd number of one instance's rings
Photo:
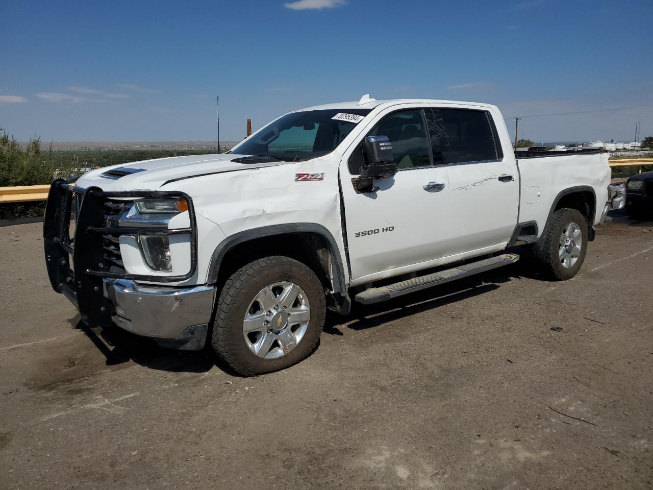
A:
{"type": "Polygon", "coordinates": [[[327,308],[514,263],[507,248],[573,277],[623,205],[610,178],[605,153],[516,159],[494,105],[365,95],[289,112],[227,154],[56,180],[46,264],[87,325],[208,341],[255,375],[304,359],[327,308]]]}

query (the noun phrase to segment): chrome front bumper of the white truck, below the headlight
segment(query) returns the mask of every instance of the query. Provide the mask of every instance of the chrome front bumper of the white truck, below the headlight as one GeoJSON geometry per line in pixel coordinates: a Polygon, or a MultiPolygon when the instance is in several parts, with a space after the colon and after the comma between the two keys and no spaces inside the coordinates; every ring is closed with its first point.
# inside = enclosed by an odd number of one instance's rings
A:
{"type": "Polygon", "coordinates": [[[104,297],[114,305],[119,327],[181,350],[200,350],[215,300],[214,286],[142,286],[131,280],[104,279],[104,297]]]}

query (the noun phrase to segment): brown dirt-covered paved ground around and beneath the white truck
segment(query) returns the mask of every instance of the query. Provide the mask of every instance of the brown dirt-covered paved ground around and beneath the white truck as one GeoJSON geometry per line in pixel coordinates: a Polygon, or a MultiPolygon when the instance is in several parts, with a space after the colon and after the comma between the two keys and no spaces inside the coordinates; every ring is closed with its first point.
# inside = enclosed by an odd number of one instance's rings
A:
{"type": "Polygon", "coordinates": [[[81,328],[40,225],[0,238],[0,488],[653,487],[653,221],[615,214],[568,282],[521,261],[329,316],[257,378],[81,328]]]}

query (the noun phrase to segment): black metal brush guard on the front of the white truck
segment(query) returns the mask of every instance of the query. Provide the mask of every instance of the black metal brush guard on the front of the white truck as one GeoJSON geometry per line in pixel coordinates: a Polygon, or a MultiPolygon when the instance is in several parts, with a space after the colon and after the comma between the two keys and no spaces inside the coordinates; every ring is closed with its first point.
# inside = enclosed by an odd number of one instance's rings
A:
{"type": "Polygon", "coordinates": [[[76,304],[82,321],[89,327],[110,325],[113,304],[104,297],[103,278],[142,282],[182,282],[197,269],[197,223],[190,196],[179,191],[120,191],[104,192],[100,188],[82,189],[63,179],[52,182],[48,193],[43,222],[43,242],[46,267],[52,289],[63,293],[76,304]],[[107,227],[104,202],[108,199],[159,199],[176,197],[188,203],[190,227],[107,227]],[[74,237],[70,223],[76,208],[74,237]],[[150,276],[129,274],[111,268],[104,259],[104,235],[179,235],[191,237],[191,267],[182,276],[150,276]]]}

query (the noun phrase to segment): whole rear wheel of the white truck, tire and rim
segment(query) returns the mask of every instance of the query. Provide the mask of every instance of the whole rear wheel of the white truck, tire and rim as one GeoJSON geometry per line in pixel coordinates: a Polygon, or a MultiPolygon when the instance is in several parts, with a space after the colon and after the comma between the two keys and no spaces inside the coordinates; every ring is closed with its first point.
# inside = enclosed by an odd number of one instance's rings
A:
{"type": "Polygon", "coordinates": [[[537,258],[548,275],[559,281],[573,278],[581,269],[587,251],[588,225],[579,210],[554,212],[537,258]]]}

